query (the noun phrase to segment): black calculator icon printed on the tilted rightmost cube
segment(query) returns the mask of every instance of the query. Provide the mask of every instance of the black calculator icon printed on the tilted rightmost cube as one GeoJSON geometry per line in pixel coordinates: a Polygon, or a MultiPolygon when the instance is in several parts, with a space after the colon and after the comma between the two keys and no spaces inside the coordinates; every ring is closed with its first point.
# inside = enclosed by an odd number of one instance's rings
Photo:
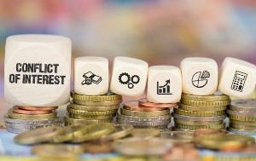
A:
{"type": "Polygon", "coordinates": [[[233,82],[231,84],[231,89],[242,92],[246,80],[247,73],[236,71],[233,78],[233,82]]]}

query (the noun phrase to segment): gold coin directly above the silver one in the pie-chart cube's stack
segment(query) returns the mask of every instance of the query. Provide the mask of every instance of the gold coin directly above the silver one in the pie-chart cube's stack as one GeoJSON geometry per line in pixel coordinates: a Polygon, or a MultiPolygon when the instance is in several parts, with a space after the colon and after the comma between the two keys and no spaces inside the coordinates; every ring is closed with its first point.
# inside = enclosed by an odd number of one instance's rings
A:
{"type": "Polygon", "coordinates": [[[226,110],[227,106],[189,106],[181,103],[179,108],[194,112],[217,112],[226,110]]]}

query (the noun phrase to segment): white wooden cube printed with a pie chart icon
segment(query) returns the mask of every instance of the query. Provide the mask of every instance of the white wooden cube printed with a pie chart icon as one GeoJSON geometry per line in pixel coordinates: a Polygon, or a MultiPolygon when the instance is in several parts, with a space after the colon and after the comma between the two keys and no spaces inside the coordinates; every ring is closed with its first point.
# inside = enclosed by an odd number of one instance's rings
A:
{"type": "Polygon", "coordinates": [[[183,93],[212,95],[218,87],[218,65],[215,60],[189,57],[181,61],[183,93]]]}

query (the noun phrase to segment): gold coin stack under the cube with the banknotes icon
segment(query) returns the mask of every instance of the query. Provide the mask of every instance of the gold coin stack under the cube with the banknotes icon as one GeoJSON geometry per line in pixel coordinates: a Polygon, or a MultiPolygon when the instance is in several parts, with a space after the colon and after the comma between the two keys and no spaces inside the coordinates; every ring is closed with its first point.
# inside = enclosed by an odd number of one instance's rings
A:
{"type": "Polygon", "coordinates": [[[66,125],[111,123],[116,116],[122,96],[79,95],[72,93],[73,101],[67,106],[66,125]]]}

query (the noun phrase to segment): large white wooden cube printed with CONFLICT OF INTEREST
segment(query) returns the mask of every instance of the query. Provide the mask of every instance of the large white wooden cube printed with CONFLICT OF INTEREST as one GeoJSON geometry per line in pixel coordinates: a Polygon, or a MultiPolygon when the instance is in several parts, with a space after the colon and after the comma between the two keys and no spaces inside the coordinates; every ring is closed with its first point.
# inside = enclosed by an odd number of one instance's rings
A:
{"type": "Polygon", "coordinates": [[[54,35],[8,37],[4,96],[19,106],[60,106],[70,98],[71,40],[54,35]]]}

